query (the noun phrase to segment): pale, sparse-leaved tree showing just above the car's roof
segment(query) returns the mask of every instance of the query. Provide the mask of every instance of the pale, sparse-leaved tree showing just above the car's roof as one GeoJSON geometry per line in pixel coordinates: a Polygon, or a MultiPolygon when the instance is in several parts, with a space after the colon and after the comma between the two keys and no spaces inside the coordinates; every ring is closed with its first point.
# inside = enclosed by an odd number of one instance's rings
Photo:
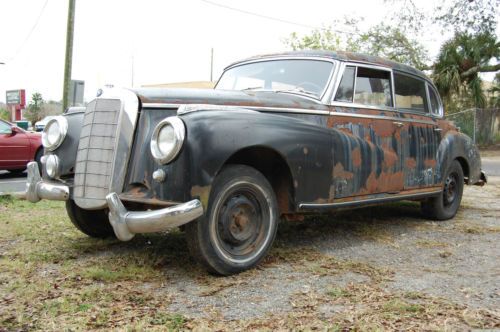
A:
{"type": "MultiPolygon", "coordinates": [[[[345,25],[352,28],[356,23],[351,21],[345,25]]],[[[351,33],[346,33],[328,27],[322,30],[313,30],[309,35],[303,37],[292,33],[284,43],[293,50],[345,50],[381,56],[419,69],[428,68],[426,65],[429,60],[427,50],[417,40],[407,37],[398,27],[380,23],[366,32],[360,32],[357,28],[351,29],[351,31],[351,33]]]]}

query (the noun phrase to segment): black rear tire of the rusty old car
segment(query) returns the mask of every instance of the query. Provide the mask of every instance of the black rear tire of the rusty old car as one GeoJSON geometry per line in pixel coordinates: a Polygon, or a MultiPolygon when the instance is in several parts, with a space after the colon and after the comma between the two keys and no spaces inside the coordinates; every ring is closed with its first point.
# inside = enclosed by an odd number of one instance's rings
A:
{"type": "Polygon", "coordinates": [[[460,207],[464,190],[462,166],[454,160],[444,176],[443,192],[421,203],[422,214],[433,220],[453,218],[460,207]]]}

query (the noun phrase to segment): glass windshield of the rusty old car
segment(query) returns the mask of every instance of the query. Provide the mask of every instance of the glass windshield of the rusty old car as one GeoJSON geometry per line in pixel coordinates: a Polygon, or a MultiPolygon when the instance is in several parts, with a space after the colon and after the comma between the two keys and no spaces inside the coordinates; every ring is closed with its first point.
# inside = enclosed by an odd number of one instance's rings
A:
{"type": "Polygon", "coordinates": [[[218,90],[257,90],[305,94],[320,99],[333,63],[322,60],[260,61],[226,70],[218,90]]]}

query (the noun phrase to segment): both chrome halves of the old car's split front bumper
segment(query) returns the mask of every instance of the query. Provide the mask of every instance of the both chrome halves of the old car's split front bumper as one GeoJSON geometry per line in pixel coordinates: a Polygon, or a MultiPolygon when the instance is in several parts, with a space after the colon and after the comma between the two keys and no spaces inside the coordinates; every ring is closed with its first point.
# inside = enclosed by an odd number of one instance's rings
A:
{"type": "MultiPolygon", "coordinates": [[[[38,164],[30,162],[26,198],[33,203],[40,199],[66,201],[69,199],[69,187],[44,182],[40,177],[38,164]]],[[[159,210],[137,212],[128,211],[116,193],[108,194],[106,201],[109,208],[109,222],[116,237],[122,241],[131,240],[138,233],[164,232],[203,215],[203,206],[198,199],[159,210]]]]}

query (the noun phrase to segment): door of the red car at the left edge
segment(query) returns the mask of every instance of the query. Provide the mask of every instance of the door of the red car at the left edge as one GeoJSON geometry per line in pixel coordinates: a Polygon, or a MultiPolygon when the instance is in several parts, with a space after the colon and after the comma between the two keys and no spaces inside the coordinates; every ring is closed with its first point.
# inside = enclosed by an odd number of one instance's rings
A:
{"type": "Polygon", "coordinates": [[[30,160],[30,142],[22,129],[12,129],[7,122],[0,121],[0,167],[25,167],[30,160]]]}

